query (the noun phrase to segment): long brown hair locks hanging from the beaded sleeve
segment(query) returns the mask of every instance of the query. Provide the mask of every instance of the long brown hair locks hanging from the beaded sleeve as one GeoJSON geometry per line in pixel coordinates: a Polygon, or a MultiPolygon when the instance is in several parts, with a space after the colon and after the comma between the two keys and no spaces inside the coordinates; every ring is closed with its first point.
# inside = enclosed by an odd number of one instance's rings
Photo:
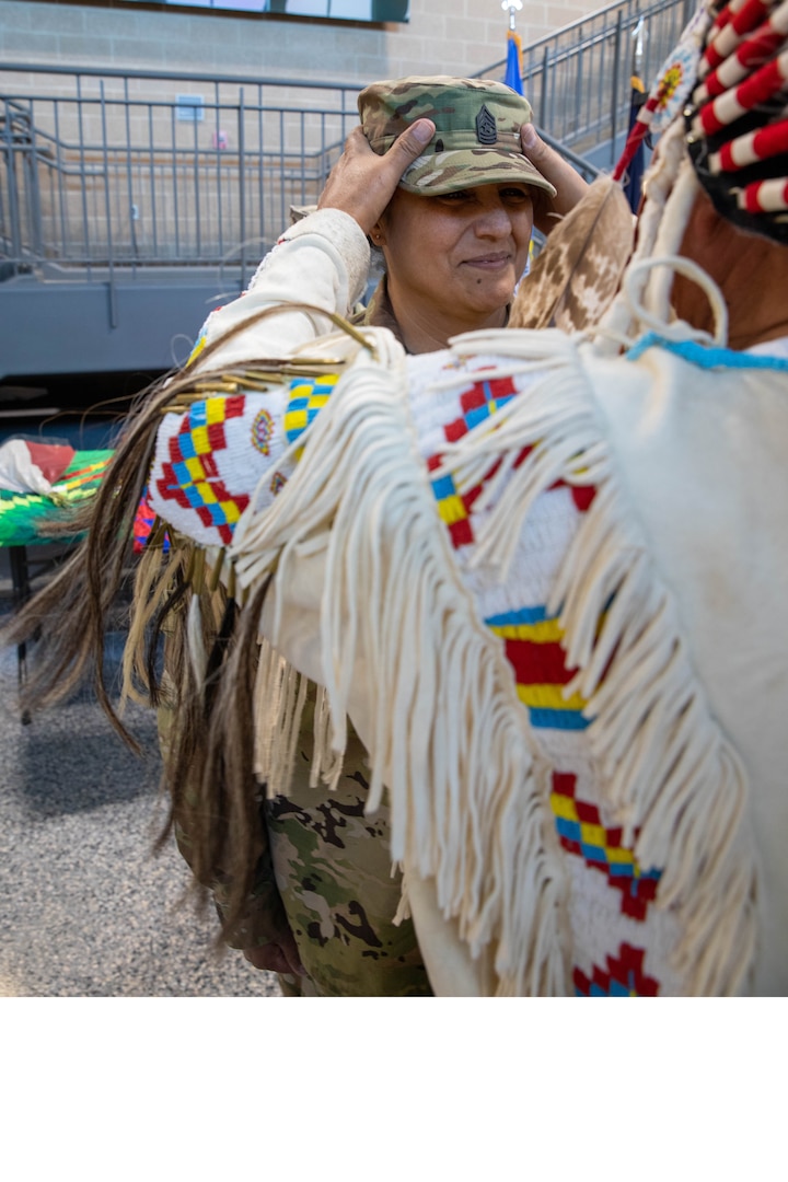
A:
{"type": "MultiPolygon", "coordinates": [[[[112,609],[128,579],[133,518],[152,462],[156,433],[165,408],[176,409],[182,403],[185,409],[197,378],[202,385],[227,377],[228,369],[211,372],[204,359],[258,318],[248,318],[207,346],[200,356],[198,375],[188,365],[137,396],[96,495],[57,531],[50,531],[52,538],[78,532],[85,538],[54,578],[0,630],[2,644],[40,636],[24,689],[27,709],[61,701],[91,678],[117,733],[139,751],[112,701],[103,657],[106,634],[116,626],[112,609]]],[[[249,362],[252,368],[254,364],[249,362]]],[[[203,902],[207,889],[220,890],[219,943],[232,940],[242,923],[266,852],[263,788],[253,771],[252,699],[256,623],[267,584],[249,603],[250,610],[240,612],[232,593],[219,585],[211,587],[204,551],[178,538],[165,553],[163,539],[164,526],[157,521],[137,563],[124,691],[159,712],[159,730],[164,732],[162,786],[169,811],[156,849],[175,833],[203,902]],[[196,678],[188,658],[187,621],[194,599],[198,600],[208,654],[204,682],[196,678]]]]}

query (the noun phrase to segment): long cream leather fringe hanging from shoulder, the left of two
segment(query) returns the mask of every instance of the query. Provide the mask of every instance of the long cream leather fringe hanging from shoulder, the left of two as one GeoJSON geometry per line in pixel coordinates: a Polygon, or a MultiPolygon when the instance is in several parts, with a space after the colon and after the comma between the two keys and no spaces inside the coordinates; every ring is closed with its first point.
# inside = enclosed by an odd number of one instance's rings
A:
{"type": "MultiPolygon", "coordinates": [[[[500,994],[561,994],[565,882],[543,768],[502,650],[456,570],[416,453],[403,358],[386,357],[388,346],[382,337],[382,363],[362,358],[337,385],[310,428],[310,462],[273,507],[247,509],[233,561],[242,585],[274,567],[287,585],[300,547],[326,543],[321,641],[334,743],[358,658],[367,682],[385,687],[363,739],[367,807],[384,787],[391,801],[392,858],[408,852],[435,879],[473,955],[493,952],[500,994]]],[[[274,644],[276,632],[274,621],[274,644]]]]}

